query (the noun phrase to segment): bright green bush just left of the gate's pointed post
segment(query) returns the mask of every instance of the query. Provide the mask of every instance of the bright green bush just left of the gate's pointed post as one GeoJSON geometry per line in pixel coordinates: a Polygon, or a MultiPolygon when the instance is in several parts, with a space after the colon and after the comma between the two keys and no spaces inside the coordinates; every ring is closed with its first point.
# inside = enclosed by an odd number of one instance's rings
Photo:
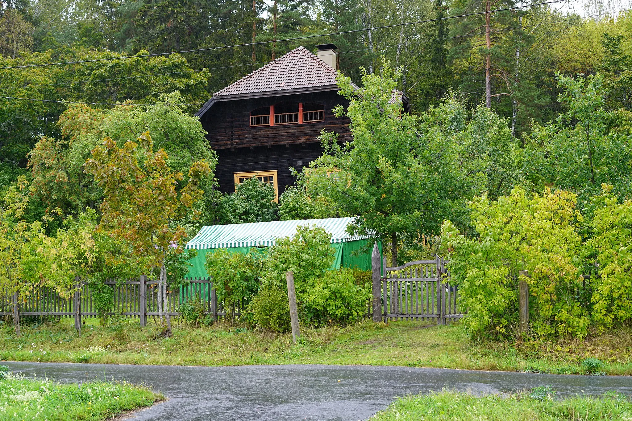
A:
{"type": "Polygon", "coordinates": [[[300,295],[303,317],[316,324],[352,322],[367,314],[370,284],[356,285],[348,268],[330,270],[322,278],[313,278],[300,295]]]}

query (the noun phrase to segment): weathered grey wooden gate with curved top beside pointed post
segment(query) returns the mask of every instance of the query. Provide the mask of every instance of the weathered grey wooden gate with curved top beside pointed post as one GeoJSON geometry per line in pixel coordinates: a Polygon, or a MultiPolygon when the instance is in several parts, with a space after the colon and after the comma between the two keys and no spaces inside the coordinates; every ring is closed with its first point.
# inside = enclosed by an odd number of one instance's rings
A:
{"type": "Polygon", "coordinates": [[[432,320],[465,316],[458,305],[458,288],[450,285],[443,258],[418,260],[386,267],[382,261],[382,317],[384,321],[432,320]]]}

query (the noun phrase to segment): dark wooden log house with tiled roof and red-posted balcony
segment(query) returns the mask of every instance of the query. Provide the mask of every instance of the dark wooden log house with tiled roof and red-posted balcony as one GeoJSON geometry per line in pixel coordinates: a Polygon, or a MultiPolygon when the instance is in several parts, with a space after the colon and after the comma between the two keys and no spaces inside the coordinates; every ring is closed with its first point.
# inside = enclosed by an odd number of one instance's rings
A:
{"type": "MultiPolygon", "coordinates": [[[[322,155],[322,129],[338,133],[343,143],[351,140],[348,119],[332,112],[348,105],[337,92],[336,46],[317,48],[317,56],[305,47],[291,50],[216,92],[195,114],[219,155],[222,193],[258,177],[278,198],[295,182],[289,167],[300,171],[322,155]]],[[[407,110],[408,100],[399,98],[407,110]]]]}

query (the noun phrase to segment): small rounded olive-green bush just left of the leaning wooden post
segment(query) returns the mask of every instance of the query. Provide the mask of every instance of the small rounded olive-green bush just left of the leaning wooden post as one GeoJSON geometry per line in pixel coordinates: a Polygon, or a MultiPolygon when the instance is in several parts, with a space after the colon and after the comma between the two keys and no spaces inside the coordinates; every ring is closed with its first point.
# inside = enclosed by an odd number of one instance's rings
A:
{"type": "Polygon", "coordinates": [[[291,327],[288,293],[279,288],[262,288],[253,297],[248,310],[260,328],[286,333],[291,327]]]}

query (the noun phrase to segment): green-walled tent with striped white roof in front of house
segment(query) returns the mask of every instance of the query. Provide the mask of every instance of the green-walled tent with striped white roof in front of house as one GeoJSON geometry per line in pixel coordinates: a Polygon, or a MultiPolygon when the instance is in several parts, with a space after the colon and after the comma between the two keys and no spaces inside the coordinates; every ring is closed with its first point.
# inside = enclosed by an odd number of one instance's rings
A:
{"type": "MultiPolygon", "coordinates": [[[[232,225],[209,225],[186,243],[186,249],[197,250],[197,257],[191,260],[193,267],[187,276],[202,278],[208,276],[204,269],[206,254],[214,249],[247,253],[251,247],[274,246],[276,239],[293,237],[296,227],[317,225],[331,234],[331,245],[336,250],[336,259],[332,269],[341,266],[371,270],[371,253],[374,239],[368,235],[352,237],[346,232],[349,223],[355,218],[305,219],[295,221],[272,221],[236,223],[232,225]]],[[[382,242],[377,243],[382,256],[382,242]]],[[[380,258],[381,261],[381,258],[380,258]]]]}

